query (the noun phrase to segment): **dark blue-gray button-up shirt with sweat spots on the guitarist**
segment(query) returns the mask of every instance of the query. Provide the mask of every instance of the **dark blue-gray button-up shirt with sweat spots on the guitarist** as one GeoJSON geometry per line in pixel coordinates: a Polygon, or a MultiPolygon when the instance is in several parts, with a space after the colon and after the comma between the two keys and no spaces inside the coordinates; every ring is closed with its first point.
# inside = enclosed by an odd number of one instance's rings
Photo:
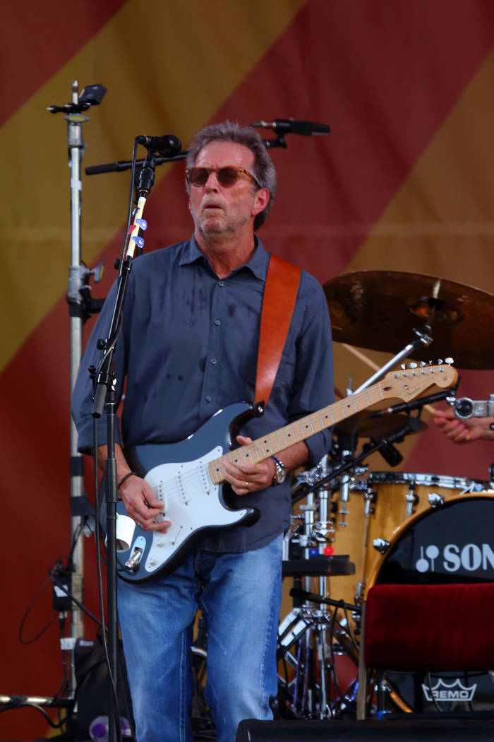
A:
{"type": "MultiPolygon", "coordinates": [[[[253,403],[258,332],[269,255],[256,238],[250,261],[218,279],[194,238],[133,261],[114,365],[120,400],[127,378],[116,441],[124,446],[172,443],[194,433],[217,410],[253,403]],[[120,433],[121,430],[121,433],[120,433]]],[[[79,450],[93,447],[93,388],[87,368],[99,365],[98,338],[106,338],[116,285],[87,344],[73,394],[79,450]]],[[[244,424],[253,439],[333,401],[333,352],[321,285],[302,272],[296,306],[264,416],[244,424]]],[[[98,421],[98,444],[107,440],[98,421]]],[[[311,463],[330,449],[330,432],[307,439],[311,463]]],[[[211,448],[215,441],[211,441],[211,448]]],[[[190,459],[198,454],[191,451],[190,459]]],[[[243,496],[261,510],[251,527],[238,526],[201,539],[201,548],[261,548],[290,522],[290,483],[243,496]]]]}

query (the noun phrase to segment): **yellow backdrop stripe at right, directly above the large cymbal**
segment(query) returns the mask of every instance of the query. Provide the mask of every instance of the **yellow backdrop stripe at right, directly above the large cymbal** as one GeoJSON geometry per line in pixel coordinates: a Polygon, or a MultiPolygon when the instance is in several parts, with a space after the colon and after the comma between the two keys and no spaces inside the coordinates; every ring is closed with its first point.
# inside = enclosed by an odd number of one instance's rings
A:
{"type": "Polygon", "coordinates": [[[494,294],[493,88],[494,51],[393,195],[348,272],[437,275],[494,294]]]}

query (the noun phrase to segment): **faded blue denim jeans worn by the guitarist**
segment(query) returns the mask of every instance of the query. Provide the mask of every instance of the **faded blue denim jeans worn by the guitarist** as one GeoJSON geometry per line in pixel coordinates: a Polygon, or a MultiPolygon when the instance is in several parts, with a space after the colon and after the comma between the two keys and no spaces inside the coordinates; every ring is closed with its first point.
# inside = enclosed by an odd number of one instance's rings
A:
{"type": "Polygon", "coordinates": [[[242,554],[195,551],[173,574],[119,580],[119,621],[138,742],[191,742],[190,646],[207,620],[205,695],[218,742],[242,719],[271,719],[283,537],[242,554]]]}

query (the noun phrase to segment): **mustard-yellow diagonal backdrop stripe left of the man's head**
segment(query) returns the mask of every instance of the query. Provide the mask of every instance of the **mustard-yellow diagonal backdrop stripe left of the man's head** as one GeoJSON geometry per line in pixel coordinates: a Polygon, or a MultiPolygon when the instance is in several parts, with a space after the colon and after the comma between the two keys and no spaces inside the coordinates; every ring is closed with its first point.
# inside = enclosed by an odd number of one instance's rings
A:
{"type": "MultiPolygon", "coordinates": [[[[1,128],[0,368],[67,291],[67,132],[61,114],[48,114],[47,105],[69,102],[73,79],[107,88],[83,125],[83,168],[130,160],[136,134],[176,134],[185,146],[305,1],[129,0],[1,128]]],[[[159,168],[157,178],[165,174],[159,168]]],[[[87,263],[124,223],[128,188],[128,174],[83,177],[87,263]]]]}

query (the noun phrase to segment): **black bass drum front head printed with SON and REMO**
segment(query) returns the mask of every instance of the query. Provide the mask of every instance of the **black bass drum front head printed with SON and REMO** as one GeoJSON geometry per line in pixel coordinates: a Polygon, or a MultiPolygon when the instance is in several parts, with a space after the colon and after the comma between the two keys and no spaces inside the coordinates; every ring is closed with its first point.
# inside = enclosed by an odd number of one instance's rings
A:
{"type": "MultiPolygon", "coordinates": [[[[494,491],[459,495],[435,508],[427,508],[407,520],[390,541],[385,554],[375,559],[367,580],[373,585],[440,585],[455,582],[494,582],[494,491]]],[[[465,620],[472,631],[490,631],[481,616],[465,620]]],[[[424,616],[427,621],[427,616],[424,616]]],[[[389,673],[391,698],[405,710],[451,711],[494,709],[493,680],[488,674],[475,677],[433,674],[424,683],[410,675],[389,673]],[[469,703],[458,700],[471,693],[469,703]],[[450,694],[450,695],[448,695],[450,694]],[[441,698],[438,704],[437,699],[441,698]],[[435,700],[434,700],[435,699],[435,700]]]]}

